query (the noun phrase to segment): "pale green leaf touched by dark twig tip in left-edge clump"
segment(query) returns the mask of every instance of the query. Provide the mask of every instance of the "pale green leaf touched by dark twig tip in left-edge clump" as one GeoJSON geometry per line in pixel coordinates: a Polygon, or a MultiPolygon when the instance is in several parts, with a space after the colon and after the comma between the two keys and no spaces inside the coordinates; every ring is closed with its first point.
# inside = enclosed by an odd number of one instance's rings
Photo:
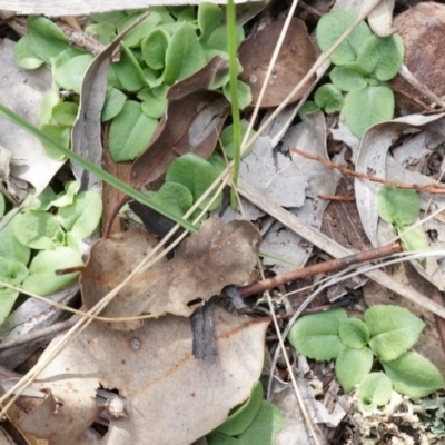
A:
{"type": "Polygon", "coordinates": [[[22,285],[23,289],[38,295],[61,290],[79,274],[56,275],[56,270],[82,265],[80,254],[69,247],[59,246],[55,250],[39,251],[31,261],[29,276],[22,285]]]}

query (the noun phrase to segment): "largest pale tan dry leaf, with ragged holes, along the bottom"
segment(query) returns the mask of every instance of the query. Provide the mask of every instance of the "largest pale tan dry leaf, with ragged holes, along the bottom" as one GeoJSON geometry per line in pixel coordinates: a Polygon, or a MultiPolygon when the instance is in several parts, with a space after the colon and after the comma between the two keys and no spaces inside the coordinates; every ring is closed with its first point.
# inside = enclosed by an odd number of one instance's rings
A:
{"type": "Polygon", "coordinates": [[[92,324],[34,384],[63,406],[48,397],[50,408],[30,413],[20,427],[51,445],[76,444],[97,417],[95,395],[101,385],[119,390],[127,415],[111,421],[102,444],[188,445],[248,397],[261,372],[268,324],[215,307],[218,356],[205,360],[191,354],[190,323],[184,317],[150,320],[132,333],[92,324]]]}

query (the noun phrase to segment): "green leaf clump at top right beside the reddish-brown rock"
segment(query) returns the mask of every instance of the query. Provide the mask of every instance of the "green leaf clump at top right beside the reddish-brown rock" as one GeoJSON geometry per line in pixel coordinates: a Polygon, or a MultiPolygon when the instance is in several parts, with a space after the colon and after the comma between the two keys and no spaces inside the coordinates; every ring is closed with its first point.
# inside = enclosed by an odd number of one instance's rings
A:
{"type": "MultiPolygon", "coordinates": [[[[356,19],[346,10],[323,16],[317,24],[322,50],[327,51],[356,19]]],[[[377,37],[362,22],[330,56],[335,65],[329,73],[332,83],[317,89],[300,116],[315,109],[326,113],[343,110],[350,131],[362,138],[373,125],[393,118],[394,93],[385,82],[397,75],[403,57],[400,36],[377,37]]]]}

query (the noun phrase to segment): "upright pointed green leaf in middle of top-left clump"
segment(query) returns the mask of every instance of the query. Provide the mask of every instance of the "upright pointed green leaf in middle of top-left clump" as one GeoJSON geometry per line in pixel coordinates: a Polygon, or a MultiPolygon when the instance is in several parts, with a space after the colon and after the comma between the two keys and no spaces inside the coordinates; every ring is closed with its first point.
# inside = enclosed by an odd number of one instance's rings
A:
{"type": "Polygon", "coordinates": [[[166,52],[164,80],[172,85],[206,65],[206,55],[191,24],[184,22],[172,34],[166,52]]]}

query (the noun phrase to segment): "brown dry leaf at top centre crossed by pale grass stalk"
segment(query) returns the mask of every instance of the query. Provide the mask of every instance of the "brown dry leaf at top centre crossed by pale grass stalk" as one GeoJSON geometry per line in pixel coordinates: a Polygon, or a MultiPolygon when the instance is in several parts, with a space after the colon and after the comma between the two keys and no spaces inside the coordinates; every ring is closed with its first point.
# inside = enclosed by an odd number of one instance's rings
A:
{"type": "MultiPolygon", "coordinates": [[[[239,77],[250,86],[253,105],[256,105],[266,72],[281,32],[285,19],[277,20],[267,28],[254,33],[239,47],[239,61],[244,72],[239,77]]],[[[289,29],[279,51],[271,80],[267,86],[261,107],[277,107],[306,76],[317,57],[307,33],[306,24],[299,19],[291,19],[289,29]]],[[[289,101],[301,99],[315,76],[289,101]]]]}

